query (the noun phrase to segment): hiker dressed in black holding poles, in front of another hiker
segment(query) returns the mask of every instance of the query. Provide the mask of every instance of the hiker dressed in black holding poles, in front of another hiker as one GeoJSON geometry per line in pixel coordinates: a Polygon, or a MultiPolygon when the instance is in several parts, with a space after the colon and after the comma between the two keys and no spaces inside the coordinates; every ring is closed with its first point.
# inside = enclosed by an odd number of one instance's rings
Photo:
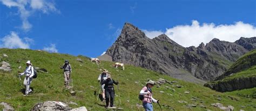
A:
{"type": "Polygon", "coordinates": [[[118,85],[118,82],[115,82],[111,75],[107,75],[107,79],[103,80],[102,84],[105,84],[105,96],[106,96],[106,108],[109,107],[109,99],[110,99],[110,107],[113,107],[114,105],[114,86],[113,84],[118,85]]]}

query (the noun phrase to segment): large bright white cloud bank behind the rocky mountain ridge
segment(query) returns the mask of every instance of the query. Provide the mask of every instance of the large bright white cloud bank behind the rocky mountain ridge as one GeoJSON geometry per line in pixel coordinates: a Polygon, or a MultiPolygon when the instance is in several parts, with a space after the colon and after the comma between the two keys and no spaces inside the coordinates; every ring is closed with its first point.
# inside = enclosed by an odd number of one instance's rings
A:
{"type": "MultiPolygon", "coordinates": [[[[160,33],[161,31],[145,32],[150,37],[160,33]]],[[[201,42],[208,43],[213,38],[234,42],[241,36],[245,38],[256,36],[256,27],[243,23],[242,21],[234,24],[215,25],[214,23],[200,24],[197,20],[192,20],[191,25],[178,25],[172,28],[166,28],[166,32],[164,33],[181,46],[197,47],[201,42]]]]}

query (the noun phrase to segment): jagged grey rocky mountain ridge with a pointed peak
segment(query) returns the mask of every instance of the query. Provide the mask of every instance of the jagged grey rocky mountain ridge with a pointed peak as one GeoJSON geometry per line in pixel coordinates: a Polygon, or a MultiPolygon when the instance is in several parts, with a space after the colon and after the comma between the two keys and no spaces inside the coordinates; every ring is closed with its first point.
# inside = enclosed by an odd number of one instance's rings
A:
{"type": "Polygon", "coordinates": [[[235,60],[255,47],[256,37],[241,38],[236,42],[213,39],[206,45],[201,43],[199,47],[185,48],[165,34],[149,39],[138,27],[125,23],[118,39],[104,56],[174,78],[205,83],[223,74],[235,60]]]}

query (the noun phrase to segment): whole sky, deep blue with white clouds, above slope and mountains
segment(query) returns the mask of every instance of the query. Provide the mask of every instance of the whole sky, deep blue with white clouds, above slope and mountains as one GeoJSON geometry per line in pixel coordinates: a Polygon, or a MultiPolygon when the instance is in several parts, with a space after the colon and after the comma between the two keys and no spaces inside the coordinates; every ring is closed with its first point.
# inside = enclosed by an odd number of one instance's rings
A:
{"type": "Polygon", "coordinates": [[[0,46],[7,48],[97,57],[125,22],[184,47],[256,36],[255,1],[0,1],[0,46]]]}

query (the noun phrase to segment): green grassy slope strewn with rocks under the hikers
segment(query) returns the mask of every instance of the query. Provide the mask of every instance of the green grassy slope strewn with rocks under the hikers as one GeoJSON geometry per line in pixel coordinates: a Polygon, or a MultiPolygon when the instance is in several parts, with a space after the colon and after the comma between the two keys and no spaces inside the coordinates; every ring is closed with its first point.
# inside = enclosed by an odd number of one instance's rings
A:
{"type": "MultiPolygon", "coordinates": [[[[104,107],[104,103],[99,102],[99,105],[95,103],[96,98],[93,95],[94,91],[98,91],[97,77],[100,73],[99,68],[108,69],[112,72],[112,78],[118,80],[120,85],[120,94],[122,104],[118,103],[118,97],[116,97],[115,104],[123,107],[126,110],[143,110],[137,108],[136,103],[138,101],[138,93],[143,87],[147,78],[157,80],[158,78],[164,78],[169,81],[177,80],[160,73],[146,70],[143,68],[137,68],[132,65],[126,65],[125,71],[116,70],[111,65],[112,62],[102,62],[98,65],[93,64],[88,58],[80,56],[84,62],[80,63],[76,60],[77,57],[67,54],[50,54],[41,51],[24,50],[24,49],[0,49],[0,55],[7,54],[9,58],[3,58],[2,61],[10,63],[13,71],[10,73],[0,72],[0,102],[8,102],[15,109],[28,110],[31,109],[35,103],[43,102],[46,100],[53,101],[73,101],[78,103],[79,106],[85,106],[87,109],[100,110],[104,107]],[[19,64],[17,61],[21,61],[22,69],[18,69],[19,64]],[[25,62],[31,60],[34,66],[39,68],[45,68],[49,73],[38,73],[38,78],[34,79],[31,86],[34,88],[34,93],[29,97],[23,97],[21,93],[21,86],[19,79],[17,78],[17,71],[23,71],[25,68],[25,62]],[[74,84],[74,90],[77,92],[76,96],[71,96],[68,91],[63,87],[63,75],[59,66],[63,64],[64,60],[70,60],[73,68],[72,78],[74,84]],[[82,65],[82,66],[80,66],[82,65]],[[139,82],[136,84],[134,82],[139,82]],[[94,86],[96,88],[92,88],[94,86]],[[128,102],[129,101],[129,102],[128,102]]],[[[22,77],[23,79],[24,77],[22,77]]],[[[188,103],[197,103],[207,106],[207,109],[219,110],[212,107],[210,104],[215,102],[223,103],[225,106],[232,105],[235,109],[242,109],[240,106],[246,106],[245,110],[256,110],[256,100],[252,98],[240,97],[236,94],[231,94],[232,97],[237,98],[239,101],[231,100],[228,98],[229,93],[219,93],[210,90],[210,88],[196,85],[193,83],[183,82],[177,80],[178,85],[182,85],[182,88],[176,88],[169,84],[164,84],[160,88],[153,87],[154,98],[160,99],[161,103],[170,105],[176,110],[191,110],[186,108],[188,103]],[[165,86],[174,88],[176,91],[168,90],[165,86]],[[165,93],[160,93],[164,91],[165,93]],[[190,94],[185,94],[185,91],[190,91],[190,94]],[[172,95],[167,95],[170,93],[172,95]],[[199,101],[191,101],[193,97],[197,97],[203,100],[203,103],[199,101]],[[221,98],[221,101],[217,98],[221,98]],[[184,100],[188,103],[179,103],[178,100],[184,100]]],[[[22,87],[23,88],[23,87],[22,87]]],[[[117,87],[116,93],[118,94],[117,87]]],[[[71,107],[78,107],[72,106],[71,107]]],[[[1,109],[1,106],[0,106],[1,109]]],[[[159,106],[154,104],[155,110],[160,110],[159,106]]],[[[163,107],[164,110],[169,110],[163,107]]],[[[205,110],[204,108],[196,107],[193,110],[205,110]]]]}

